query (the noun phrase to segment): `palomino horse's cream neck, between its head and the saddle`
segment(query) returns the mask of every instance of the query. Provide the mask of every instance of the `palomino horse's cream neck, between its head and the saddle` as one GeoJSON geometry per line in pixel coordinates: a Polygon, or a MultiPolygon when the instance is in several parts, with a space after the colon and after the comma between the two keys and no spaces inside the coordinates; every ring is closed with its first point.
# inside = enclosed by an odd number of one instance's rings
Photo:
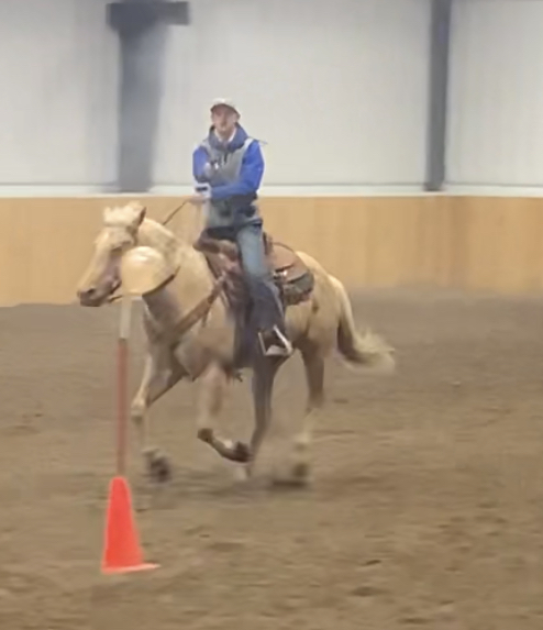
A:
{"type": "Polygon", "coordinates": [[[163,289],[145,298],[155,319],[169,324],[171,318],[179,317],[210,292],[212,278],[209,267],[203,254],[191,244],[151,219],[146,219],[140,228],[138,244],[157,250],[174,276],[163,289]]]}

